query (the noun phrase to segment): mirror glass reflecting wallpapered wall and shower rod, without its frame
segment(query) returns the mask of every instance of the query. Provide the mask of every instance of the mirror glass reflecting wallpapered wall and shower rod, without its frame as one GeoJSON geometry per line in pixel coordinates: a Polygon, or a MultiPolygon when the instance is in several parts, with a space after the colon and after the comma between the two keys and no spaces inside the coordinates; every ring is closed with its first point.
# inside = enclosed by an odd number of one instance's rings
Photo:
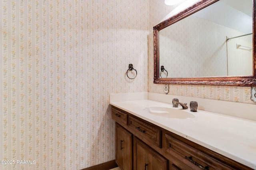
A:
{"type": "Polygon", "coordinates": [[[161,29],[162,65],[170,78],[252,75],[252,0],[219,0],[161,29]]]}

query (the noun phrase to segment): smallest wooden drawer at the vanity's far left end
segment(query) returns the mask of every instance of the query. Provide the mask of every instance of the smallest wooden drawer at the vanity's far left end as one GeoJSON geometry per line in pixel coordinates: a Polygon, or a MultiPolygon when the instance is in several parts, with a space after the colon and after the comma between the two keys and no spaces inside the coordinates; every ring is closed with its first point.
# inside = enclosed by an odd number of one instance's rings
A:
{"type": "Polygon", "coordinates": [[[121,111],[113,106],[111,108],[111,117],[114,119],[114,121],[121,125],[128,124],[128,113],[125,113],[124,111],[121,111]]]}

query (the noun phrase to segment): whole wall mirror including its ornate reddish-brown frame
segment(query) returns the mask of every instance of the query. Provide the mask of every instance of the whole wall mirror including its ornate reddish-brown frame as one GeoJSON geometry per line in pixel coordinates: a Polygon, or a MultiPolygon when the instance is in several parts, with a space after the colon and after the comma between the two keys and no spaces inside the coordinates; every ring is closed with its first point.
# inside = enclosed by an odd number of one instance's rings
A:
{"type": "Polygon", "coordinates": [[[199,0],[156,25],[154,83],[255,86],[254,5],[199,0]]]}

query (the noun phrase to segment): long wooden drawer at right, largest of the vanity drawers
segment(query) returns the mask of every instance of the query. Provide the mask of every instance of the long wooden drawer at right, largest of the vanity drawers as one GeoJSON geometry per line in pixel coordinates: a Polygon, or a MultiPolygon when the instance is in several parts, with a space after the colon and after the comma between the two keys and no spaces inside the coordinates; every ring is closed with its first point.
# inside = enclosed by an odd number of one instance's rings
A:
{"type": "Polygon", "coordinates": [[[230,160],[216,152],[200,145],[181,140],[176,135],[165,134],[165,150],[171,155],[176,155],[184,164],[194,170],[234,170],[240,169],[238,162],[230,160]],[[228,164],[229,162],[229,164],[228,164]]]}

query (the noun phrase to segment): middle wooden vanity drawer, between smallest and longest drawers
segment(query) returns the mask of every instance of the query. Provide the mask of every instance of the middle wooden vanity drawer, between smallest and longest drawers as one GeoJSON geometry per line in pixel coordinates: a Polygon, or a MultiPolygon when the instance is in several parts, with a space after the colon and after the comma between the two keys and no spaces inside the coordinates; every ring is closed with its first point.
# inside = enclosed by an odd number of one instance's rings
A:
{"type": "Polygon", "coordinates": [[[142,139],[148,144],[154,144],[158,147],[161,145],[161,129],[155,126],[152,126],[148,123],[144,123],[135,117],[129,117],[129,130],[134,133],[137,137],[142,139]]]}

